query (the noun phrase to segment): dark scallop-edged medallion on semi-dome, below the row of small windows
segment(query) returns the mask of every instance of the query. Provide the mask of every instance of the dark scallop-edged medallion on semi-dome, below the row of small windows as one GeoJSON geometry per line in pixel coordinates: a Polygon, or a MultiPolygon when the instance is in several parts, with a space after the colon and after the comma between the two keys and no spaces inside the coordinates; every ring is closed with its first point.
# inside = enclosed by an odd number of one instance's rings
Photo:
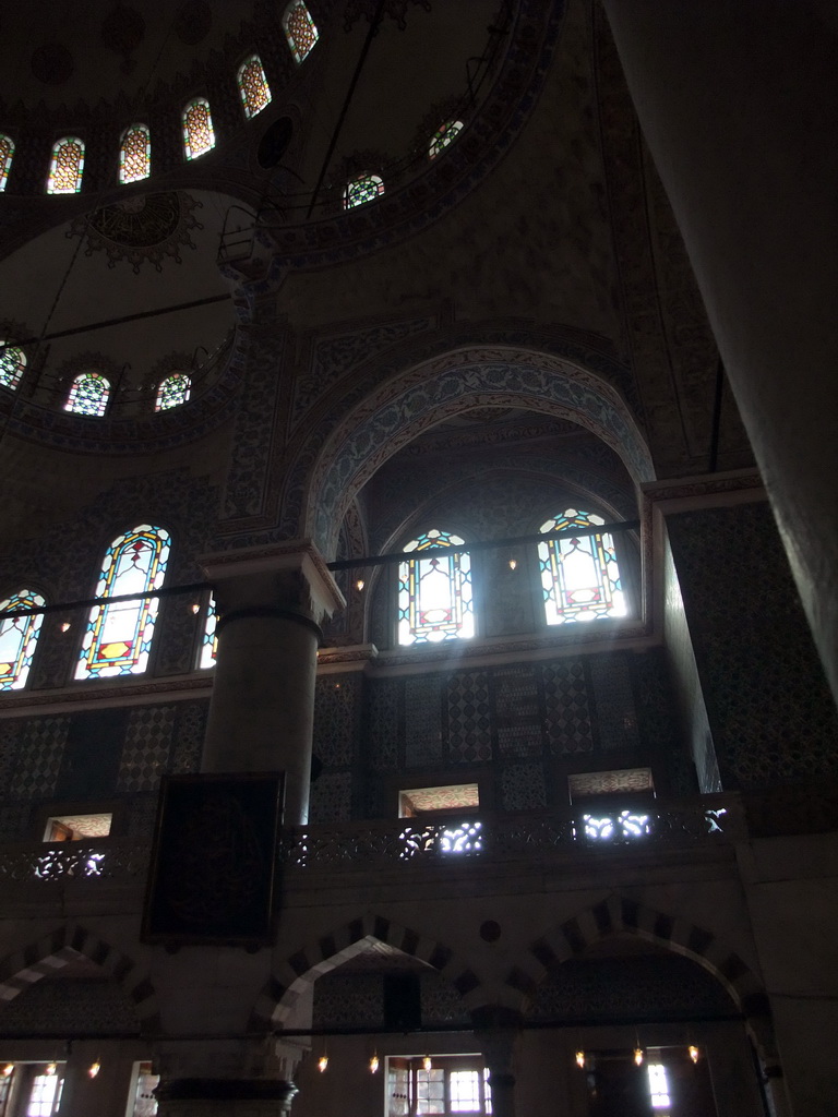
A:
{"type": "Polygon", "coordinates": [[[105,251],[109,268],[127,260],[139,274],[147,261],[160,271],[165,259],[181,262],[181,248],[196,248],[192,232],[203,226],[192,211],[202,204],[182,190],[134,195],[76,218],[67,236],[86,237],[85,256],[105,251]]]}

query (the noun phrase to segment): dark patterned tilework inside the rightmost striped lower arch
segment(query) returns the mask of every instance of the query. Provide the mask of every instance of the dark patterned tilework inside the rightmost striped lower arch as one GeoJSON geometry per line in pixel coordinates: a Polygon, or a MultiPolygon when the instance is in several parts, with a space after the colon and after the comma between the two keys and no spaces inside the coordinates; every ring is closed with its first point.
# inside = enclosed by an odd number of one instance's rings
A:
{"type": "Polygon", "coordinates": [[[597,1020],[649,1015],[689,1019],[733,1012],[722,985],[695,962],[660,957],[571,958],[539,986],[530,1020],[597,1020]]]}

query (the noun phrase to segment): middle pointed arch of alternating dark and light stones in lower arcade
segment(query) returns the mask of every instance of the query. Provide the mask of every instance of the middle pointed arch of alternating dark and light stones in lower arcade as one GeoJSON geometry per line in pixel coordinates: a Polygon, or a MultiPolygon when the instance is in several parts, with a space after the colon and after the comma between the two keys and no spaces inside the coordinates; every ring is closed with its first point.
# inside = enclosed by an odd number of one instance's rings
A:
{"type": "Polygon", "coordinates": [[[249,1030],[264,1031],[267,1027],[286,1023],[306,986],[375,942],[427,962],[455,986],[467,1006],[483,1003],[480,980],[445,943],[402,927],[393,919],[368,914],[351,919],[286,958],[261,990],[250,1015],[249,1030]]]}

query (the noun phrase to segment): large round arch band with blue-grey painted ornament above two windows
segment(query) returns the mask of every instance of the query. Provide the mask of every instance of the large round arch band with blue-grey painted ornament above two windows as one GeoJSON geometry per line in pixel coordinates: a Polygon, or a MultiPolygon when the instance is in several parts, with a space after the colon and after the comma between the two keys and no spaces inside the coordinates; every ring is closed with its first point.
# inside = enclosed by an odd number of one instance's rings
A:
{"type": "Polygon", "coordinates": [[[388,458],[441,420],[487,405],[568,419],[610,446],[635,484],[655,477],[628,404],[602,378],[544,352],[474,347],[397,374],[342,418],[313,465],[301,534],[332,555],[346,506],[388,458]]]}

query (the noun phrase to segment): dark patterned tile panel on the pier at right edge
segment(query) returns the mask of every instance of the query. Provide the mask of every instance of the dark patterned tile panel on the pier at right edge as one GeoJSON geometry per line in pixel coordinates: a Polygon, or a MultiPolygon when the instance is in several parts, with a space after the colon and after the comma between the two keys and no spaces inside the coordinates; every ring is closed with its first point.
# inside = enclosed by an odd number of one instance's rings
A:
{"type": "Polygon", "coordinates": [[[722,784],[838,773],[838,714],[768,504],[667,527],[722,784]]]}

